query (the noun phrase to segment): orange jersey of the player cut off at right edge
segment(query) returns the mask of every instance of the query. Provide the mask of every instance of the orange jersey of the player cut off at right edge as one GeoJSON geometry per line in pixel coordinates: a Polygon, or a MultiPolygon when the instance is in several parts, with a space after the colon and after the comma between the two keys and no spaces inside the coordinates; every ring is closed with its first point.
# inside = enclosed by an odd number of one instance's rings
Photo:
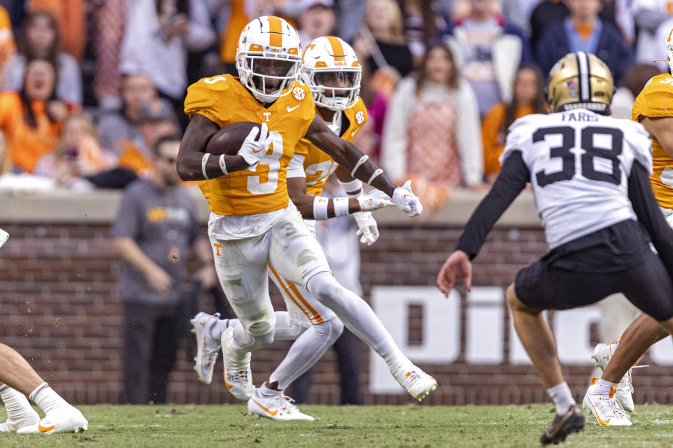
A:
{"type": "MultiPolygon", "coordinates": [[[[673,76],[657,75],[638,94],[631,119],[643,117],[673,117],[673,76]]],[[[660,207],[673,209],[673,160],[657,139],[652,139],[652,191],[660,207]]]]}

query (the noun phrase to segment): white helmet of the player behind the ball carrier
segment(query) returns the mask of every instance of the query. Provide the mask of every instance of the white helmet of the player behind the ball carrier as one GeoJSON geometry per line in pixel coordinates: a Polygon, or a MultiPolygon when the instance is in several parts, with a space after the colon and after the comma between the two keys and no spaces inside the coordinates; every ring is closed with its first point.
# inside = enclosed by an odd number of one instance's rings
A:
{"type": "Polygon", "coordinates": [[[355,50],[341,38],[321,36],[306,45],[301,78],[311,89],[315,104],[343,111],[360,94],[362,67],[355,50]]]}

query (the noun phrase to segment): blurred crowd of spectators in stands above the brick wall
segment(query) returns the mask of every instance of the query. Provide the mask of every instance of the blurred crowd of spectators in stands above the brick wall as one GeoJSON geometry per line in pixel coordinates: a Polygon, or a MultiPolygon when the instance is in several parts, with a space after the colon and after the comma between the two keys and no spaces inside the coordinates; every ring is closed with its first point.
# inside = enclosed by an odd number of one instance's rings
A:
{"type": "Polygon", "coordinates": [[[437,209],[498,174],[516,118],[546,113],[546,73],[593,52],[630,118],[667,68],[670,0],[0,0],[0,191],[123,188],[188,124],[186,87],[236,74],[238,34],[290,20],[303,45],[334,34],[363,69],[355,144],[437,209]]]}

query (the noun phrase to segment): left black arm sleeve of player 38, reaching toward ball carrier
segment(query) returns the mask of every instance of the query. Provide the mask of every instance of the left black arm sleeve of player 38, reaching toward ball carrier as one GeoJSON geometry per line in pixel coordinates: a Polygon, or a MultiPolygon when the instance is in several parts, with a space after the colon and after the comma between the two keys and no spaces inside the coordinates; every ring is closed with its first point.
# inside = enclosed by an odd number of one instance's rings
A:
{"type": "MultiPolygon", "coordinates": [[[[505,213],[512,201],[521,193],[530,179],[530,172],[521,155],[521,151],[512,151],[501,169],[498,179],[484,197],[477,209],[470,216],[456,251],[463,251],[470,256],[470,260],[477,256],[484,239],[491,232],[498,218],[505,213]]],[[[673,253],[673,252],[672,252],[673,253]]]]}

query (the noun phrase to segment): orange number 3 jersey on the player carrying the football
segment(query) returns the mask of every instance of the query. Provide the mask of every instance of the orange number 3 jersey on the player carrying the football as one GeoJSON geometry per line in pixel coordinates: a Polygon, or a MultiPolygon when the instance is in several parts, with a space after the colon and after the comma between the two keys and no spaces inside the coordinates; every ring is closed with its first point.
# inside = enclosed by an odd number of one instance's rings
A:
{"type": "Polygon", "coordinates": [[[210,181],[199,188],[210,211],[224,216],[266,213],[287,207],[286,168],[294,147],[315,118],[315,105],[308,85],[295,81],[284,96],[265,108],[243,84],[231,75],[203,78],[187,89],[184,111],[198,113],[219,127],[241,121],[266,123],[273,143],[254,169],[243,169],[210,181]]]}

